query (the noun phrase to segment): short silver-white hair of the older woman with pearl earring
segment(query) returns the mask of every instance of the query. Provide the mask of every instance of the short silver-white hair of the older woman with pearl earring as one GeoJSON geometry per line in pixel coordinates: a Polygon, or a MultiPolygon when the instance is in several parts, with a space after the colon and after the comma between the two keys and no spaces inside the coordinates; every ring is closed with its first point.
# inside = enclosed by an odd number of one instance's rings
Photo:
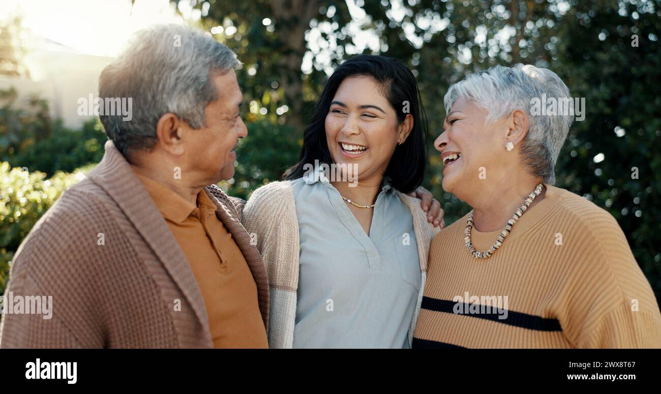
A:
{"type": "MultiPolygon", "coordinates": [[[[555,163],[567,138],[573,116],[566,113],[531,115],[531,100],[553,97],[559,104],[566,103],[573,114],[574,100],[556,73],[522,64],[512,67],[496,65],[486,71],[473,73],[450,85],[444,98],[446,115],[459,97],[488,110],[487,126],[503,116],[509,116],[516,109],[523,110],[529,118],[529,129],[521,149],[523,163],[531,174],[542,177],[544,182],[555,184],[555,163]]],[[[541,105],[545,103],[541,102],[541,105]]]]}

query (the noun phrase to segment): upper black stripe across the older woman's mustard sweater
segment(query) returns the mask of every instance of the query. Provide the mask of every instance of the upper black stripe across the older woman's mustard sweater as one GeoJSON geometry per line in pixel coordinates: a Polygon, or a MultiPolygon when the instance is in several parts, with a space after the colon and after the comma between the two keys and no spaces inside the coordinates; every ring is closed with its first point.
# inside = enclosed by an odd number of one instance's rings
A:
{"type": "MultiPolygon", "coordinates": [[[[456,304],[457,302],[448,301],[447,299],[422,297],[422,305],[420,305],[420,308],[427,309],[428,311],[452,313],[453,315],[477,317],[479,319],[495,321],[497,323],[503,323],[514,327],[521,327],[522,329],[535,331],[563,331],[560,327],[560,322],[557,319],[547,319],[514,311],[507,311],[506,319],[498,319],[500,315],[497,313],[455,313],[454,307],[456,304]]],[[[469,303],[463,303],[461,310],[469,311],[470,306],[471,304],[469,303]]]]}

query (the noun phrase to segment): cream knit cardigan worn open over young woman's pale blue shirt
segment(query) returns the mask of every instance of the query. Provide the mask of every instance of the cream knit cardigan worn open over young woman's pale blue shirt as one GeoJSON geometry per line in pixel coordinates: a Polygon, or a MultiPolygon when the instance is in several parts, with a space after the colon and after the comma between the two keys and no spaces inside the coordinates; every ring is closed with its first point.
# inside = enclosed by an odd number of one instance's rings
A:
{"type": "MultiPolygon", "coordinates": [[[[411,344],[427,276],[429,245],[440,229],[428,223],[418,198],[399,191],[397,195],[407,204],[413,217],[422,273],[418,301],[408,330],[408,343],[411,344]]],[[[270,288],[268,344],[270,348],[292,348],[300,244],[291,182],[288,180],[271,182],[255,190],[243,209],[242,223],[251,234],[253,241],[256,241],[268,275],[270,288]]]]}

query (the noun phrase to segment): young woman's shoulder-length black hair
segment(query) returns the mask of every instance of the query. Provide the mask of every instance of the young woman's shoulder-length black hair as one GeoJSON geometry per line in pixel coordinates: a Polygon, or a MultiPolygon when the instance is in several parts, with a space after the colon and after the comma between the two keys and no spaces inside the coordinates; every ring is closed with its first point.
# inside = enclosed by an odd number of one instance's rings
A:
{"type": "Polygon", "coordinates": [[[422,182],[426,157],[427,118],[422,107],[418,83],[413,73],[401,61],[375,55],[358,55],[342,63],[329,77],[315,107],[310,124],[303,132],[303,149],[299,162],[284,173],[288,180],[303,177],[306,165],[331,164],[332,157],[326,141],[326,116],[331,101],[344,79],[364,75],[383,86],[387,100],[397,113],[399,124],[407,114],[413,116],[413,128],[404,143],[397,145],[385,170],[385,177],[400,192],[412,192],[422,182]],[[405,105],[408,102],[408,106],[405,105]],[[408,112],[405,109],[408,108],[408,112]]]}

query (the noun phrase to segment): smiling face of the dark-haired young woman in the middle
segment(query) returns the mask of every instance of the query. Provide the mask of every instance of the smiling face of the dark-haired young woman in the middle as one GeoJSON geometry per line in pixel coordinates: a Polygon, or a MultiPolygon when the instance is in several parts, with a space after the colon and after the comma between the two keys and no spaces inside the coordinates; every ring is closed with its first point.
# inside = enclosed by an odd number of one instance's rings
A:
{"type": "Polygon", "coordinates": [[[331,157],[338,165],[356,164],[358,171],[353,176],[357,175],[359,182],[383,176],[398,141],[403,142],[412,127],[410,114],[399,124],[382,91],[371,77],[348,77],[337,89],[326,115],[331,157]]]}

